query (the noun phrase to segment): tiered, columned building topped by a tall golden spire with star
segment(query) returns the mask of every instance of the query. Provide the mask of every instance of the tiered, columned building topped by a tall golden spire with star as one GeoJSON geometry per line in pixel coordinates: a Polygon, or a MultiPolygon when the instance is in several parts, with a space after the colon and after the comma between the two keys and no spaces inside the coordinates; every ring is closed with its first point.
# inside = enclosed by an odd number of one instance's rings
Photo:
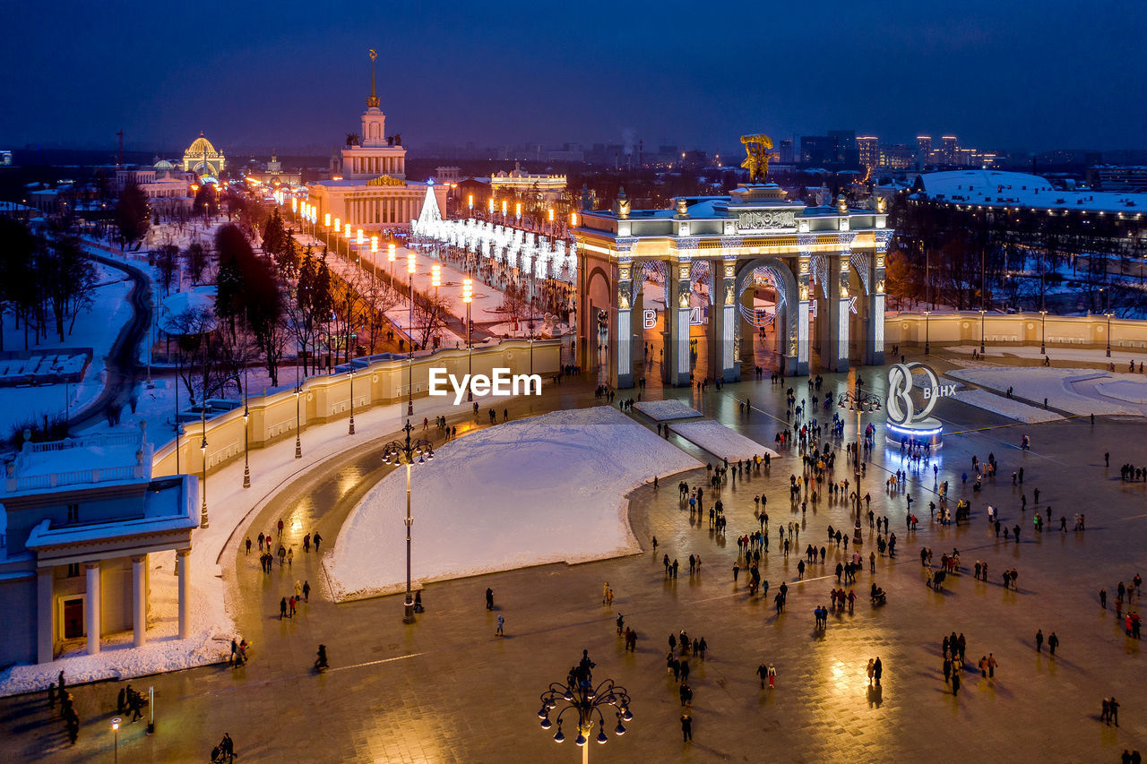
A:
{"type": "MultiPolygon", "coordinates": [[[[361,131],[342,151],[342,177],[306,185],[318,219],[338,218],[352,233],[407,229],[419,217],[427,184],[406,179],[406,149],[400,135],[387,135],[387,115],[375,92],[374,52],[370,52],[370,95],[361,131]]],[[[446,209],[446,187],[435,188],[439,209],[446,209]]]]}

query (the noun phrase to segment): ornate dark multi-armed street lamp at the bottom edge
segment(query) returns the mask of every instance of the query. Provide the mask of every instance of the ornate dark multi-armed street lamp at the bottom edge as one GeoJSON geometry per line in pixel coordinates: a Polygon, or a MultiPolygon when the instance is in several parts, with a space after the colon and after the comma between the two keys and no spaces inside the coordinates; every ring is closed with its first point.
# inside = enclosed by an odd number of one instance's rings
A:
{"type": "Polygon", "coordinates": [[[549,683],[549,687],[541,693],[541,708],[538,709],[538,718],[541,719],[541,728],[549,730],[553,722],[549,720],[549,711],[557,708],[557,703],[564,703],[564,708],[557,714],[557,732],[554,734],[555,743],[565,742],[565,734],[562,732],[562,717],[570,714],[570,719],[577,716],[577,738],[574,740],[582,748],[582,764],[590,762],[590,733],[593,731],[594,716],[598,717],[599,726],[596,741],[599,744],[609,742],[606,735],[606,716],[602,709],[608,708],[617,718],[617,726],[614,734],[622,736],[625,734],[625,726],[622,722],[631,722],[633,714],[630,712],[630,694],[625,687],[614,684],[612,679],[606,679],[596,687],[593,686],[591,669],[594,663],[587,656],[575,668],[565,679],[569,684],[560,681],[549,683]]]}

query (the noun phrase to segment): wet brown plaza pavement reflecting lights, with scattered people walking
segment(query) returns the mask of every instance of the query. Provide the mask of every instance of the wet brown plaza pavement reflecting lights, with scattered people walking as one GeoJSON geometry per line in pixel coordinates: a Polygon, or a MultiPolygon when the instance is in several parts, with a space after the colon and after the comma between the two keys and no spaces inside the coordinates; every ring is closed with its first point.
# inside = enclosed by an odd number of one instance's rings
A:
{"type": "MultiPolygon", "coordinates": [[[[882,389],[876,369],[861,369],[861,375],[869,388],[882,389]]],[[[853,379],[825,377],[821,398],[828,390],[843,391],[853,379]]],[[[772,446],[785,424],[788,385],[798,399],[807,390],[803,380],[778,387],[766,375],[762,382],[710,388],[700,396],[685,389],[665,392],[772,446]],[[746,397],[754,411],[742,415],[738,400],[746,397]]],[[[546,396],[510,405],[510,412],[521,416],[593,403],[592,383],[567,383],[547,385],[546,396]]],[[[834,411],[818,415],[830,420],[834,411]]],[[[717,498],[728,517],[725,538],[709,529],[708,519],[690,522],[677,480],[670,478],[657,490],[647,485],[632,496],[634,532],[647,549],[656,535],[656,554],[650,549],[430,584],[423,591],[427,610],[412,625],[401,621],[401,595],[335,605],[318,555],[302,553],[301,539],[318,529],[323,552],[329,551],[346,513],[384,474],[377,450],[389,438],[366,442],[283,490],[252,527],[252,536],[259,528],[274,532],[278,519],[284,519],[286,540],[296,552],[289,570],[276,564],[265,575],[255,554],[225,552],[224,575],[241,602],[240,627],[253,642],[251,662],[237,670],[212,666],[134,680],[136,688],[156,687],[157,731],[147,736],[142,723],[127,725],[119,754],[124,761],[205,761],[211,746],[229,732],[240,761],[572,762],[579,751],[570,750],[576,748],[571,739],[555,744],[554,731],[540,730],[536,712],[538,695],[549,681],[564,679],[583,648],[598,663],[595,679],[610,677],[633,697],[627,734],[610,735],[607,746],[591,743],[595,762],[1117,762],[1125,747],[1147,750],[1141,644],[1123,636],[1113,611],[1117,582],[1129,582],[1137,562],[1147,563],[1147,484],[1123,483],[1118,473],[1123,462],[1147,463],[1142,421],[1015,424],[955,400],[939,402],[936,413],[950,432],[959,432],[950,435],[941,452],[938,481],[951,482],[953,500],[972,499],[972,522],[942,528],[929,521],[935,481],[930,469],[921,468],[907,489],[921,523],[908,532],[905,494],[883,488],[890,470],[902,467],[899,453],[877,447],[864,490],[872,493],[874,512],[889,517],[898,554],[891,560],[877,555],[875,574],[865,566],[857,578],[855,614],[830,615],[822,632],[813,629],[812,609],[829,602],[835,564],[843,559],[843,549],[825,541],[826,529],[851,528],[851,508],[821,497],[802,515],[789,502],[789,475],[801,474],[795,451],[773,460],[767,473],[723,488],[717,498]],[[1031,437],[1030,452],[1019,450],[1022,435],[1031,437]],[[1105,451],[1111,453],[1110,468],[1103,466],[1105,451]],[[985,460],[989,452],[1000,462],[999,476],[973,496],[970,481],[961,485],[960,474],[972,471],[973,454],[985,460]],[[1013,488],[1011,474],[1021,466],[1024,484],[1013,488]],[[1056,530],[1032,530],[1035,488],[1040,490],[1040,513],[1052,505],[1056,530]],[[1028,510],[1021,513],[1023,492],[1028,510]],[[754,497],[762,493],[768,498],[771,529],[770,553],[762,563],[771,583],[767,600],[748,594],[743,571],[738,584],[732,576],[736,536],[757,528],[754,497]],[[1022,525],[1019,545],[989,529],[986,504],[1000,507],[1007,525],[1022,525]],[[1086,513],[1087,531],[1061,533],[1059,516],[1067,515],[1070,527],[1076,512],[1086,513]],[[785,558],[777,525],[789,522],[799,524],[801,533],[797,548],[785,558]],[[828,558],[796,582],[797,561],[809,543],[826,544],[828,558]],[[960,551],[963,572],[949,577],[943,592],[923,583],[921,546],[931,547],[937,561],[943,551],[960,551]],[[677,579],[665,578],[663,553],[681,561],[677,579]],[[690,553],[702,559],[694,576],[688,572],[690,553]],[[973,579],[975,560],[988,561],[986,582],[973,579]],[[1012,567],[1019,571],[1016,591],[998,583],[998,574],[1012,567]],[[278,602],[290,594],[295,579],[310,582],[311,601],[294,618],[280,621],[278,602]],[[607,580],[616,592],[612,607],[601,603],[607,580]],[[781,580],[789,586],[788,607],[778,615],[772,594],[781,580]],[[887,606],[869,603],[872,582],[888,591],[887,606]],[[483,606],[487,586],[494,590],[494,611],[483,606]],[[1109,593],[1107,610],[1098,602],[1101,586],[1109,593]],[[638,630],[635,654],[625,653],[616,634],[618,613],[638,630]],[[494,636],[499,614],[506,618],[504,638],[494,636]],[[705,661],[690,658],[689,744],[681,742],[677,685],[665,670],[668,636],[681,629],[709,644],[705,661]],[[1036,652],[1037,629],[1060,638],[1054,658],[1046,646],[1036,652]],[[951,631],[962,632],[968,642],[968,665],[955,697],[941,672],[941,640],[951,631]],[[328,646],[331,661],[322,675],[310,668],[319,642],[328,646]],[[974,670],[989,652],[999,661],[993,680],[974,670]],[[868,658],[877,655],[884,668],[880,687],[869,686],[865,673],[868,658]],[[759,688],[755,671],[763,662],[777,668],[772,691],[759,688]],[[1100,701],[1113,694],[1122,703],[1118,728],[1099,722],[1100,701]]],[[[460,436],[469,421],[466,415],[458,420],[460,436]]],[[[876,424],[880,437],[882,422],[876,424]]],[[[855,419],[848,419],[848,442],[853,427],[855,419]]],[[[841,454],[835,478],[845,477],[851,480],[851,469],[841,454]]],[[[690,484],[703,478],[704,470],[684,476],[690,484]]],[[[459,502],[465,508],[465,497],[459,502]]],[[[396,523],[400,527],[400,520],[396,523]]],[[[875,547],[867,523],[864,533],[867,558],[875,547]]],[[[415,555],[427,543],[432,543],[431,531],[415,522],[415,555]]],[[[1142,567],[1139,572],[1147,571],[1142,567]]],[[[1132,607],[1139,608],[1138,598],[1132,607]]],[[[63,739],[63,725],[49,717],[42,696],[0,701],[0,751],[16,761],[42,754],[50,761],[110,761],[108,720],[119,686],[73,689],[84,722],[75,748],[63,739]]],[[[611,727],[612,718],[607,724],[611,727]]]]}

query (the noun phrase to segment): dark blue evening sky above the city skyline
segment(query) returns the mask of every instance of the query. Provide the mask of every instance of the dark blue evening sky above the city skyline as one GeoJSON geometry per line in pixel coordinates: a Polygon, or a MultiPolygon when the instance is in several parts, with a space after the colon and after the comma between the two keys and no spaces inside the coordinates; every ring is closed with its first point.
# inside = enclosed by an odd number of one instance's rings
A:
{"type": "Polygon", "coordinates": [[[735,146],[855,128],[966,146],[1147,146],[1147,13],[1109,2],[21,3],[0,148],[428,142],[735,146]],[[943,6],[943,7],[942,7],[943,6]]]}

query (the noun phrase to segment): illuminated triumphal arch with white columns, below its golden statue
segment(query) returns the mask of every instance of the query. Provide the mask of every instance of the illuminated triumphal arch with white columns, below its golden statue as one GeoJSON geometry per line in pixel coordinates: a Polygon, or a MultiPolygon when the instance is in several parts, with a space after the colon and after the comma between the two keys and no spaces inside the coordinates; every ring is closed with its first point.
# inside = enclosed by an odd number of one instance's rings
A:
{"type": "Polygon", "coordinates": [[[579,362],[601,362],[615,388],[633,387],[655,364],[665,384],[688,384],[694,327],[705,340],[704,376],[726,382],[755,366],[803,375],[884,361],[892,232],[882,205],[850,209],[827,192],[809,205],[773,184],[746,184],[728,196],[631,210],[623,189],[612,210],[583,211],[572,234],[579,362]],[[762,333],[765,357],[755,350],[762,333]]]}

